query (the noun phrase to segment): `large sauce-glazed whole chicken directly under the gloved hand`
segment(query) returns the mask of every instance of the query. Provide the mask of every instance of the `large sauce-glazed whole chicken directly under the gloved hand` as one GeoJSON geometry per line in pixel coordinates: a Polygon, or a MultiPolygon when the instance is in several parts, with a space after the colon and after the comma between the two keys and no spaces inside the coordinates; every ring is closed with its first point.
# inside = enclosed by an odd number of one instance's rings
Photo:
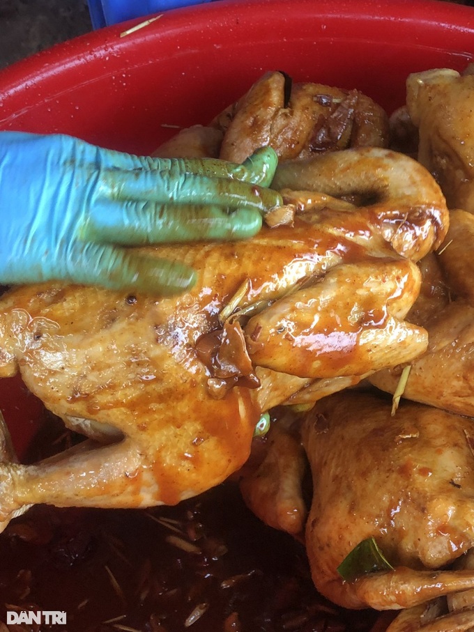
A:
{"type": "MultiPolygon", "coordinates": [[[[424,352],[425,330],[404,320],[420,291],[411,259],[443,240],[444,199],[413,160],[361,152],[388,191],[400,169],[415,173],[418,197],[306,210],[245,242],[147,249],[197,270],[196,286],[178,298],[61,284],[3,295],[0,375],[20,371],[49,410],[93,441],[32,466],[0,464],[3,524],[38,502],[189,498],[240,468],[270,406],[321,378],[357,381],[424,352]]],[[[356,157],[341,153],[341,178],[356,157]]],[[[324,161],[320,171],[337,177],[324,161]]]]}

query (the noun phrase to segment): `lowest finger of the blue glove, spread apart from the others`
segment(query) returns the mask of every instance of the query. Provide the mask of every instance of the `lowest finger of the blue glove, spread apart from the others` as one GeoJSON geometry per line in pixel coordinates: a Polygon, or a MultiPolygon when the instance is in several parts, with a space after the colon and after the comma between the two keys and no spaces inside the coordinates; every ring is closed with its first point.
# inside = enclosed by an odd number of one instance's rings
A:
{"type": "Polygon", "coordinates": [[[86,243],[76,245],[56,279],[112,290],[174,295],[192,288],[196,272],[183,263],[144,256],[128,249],[86,243]]]}

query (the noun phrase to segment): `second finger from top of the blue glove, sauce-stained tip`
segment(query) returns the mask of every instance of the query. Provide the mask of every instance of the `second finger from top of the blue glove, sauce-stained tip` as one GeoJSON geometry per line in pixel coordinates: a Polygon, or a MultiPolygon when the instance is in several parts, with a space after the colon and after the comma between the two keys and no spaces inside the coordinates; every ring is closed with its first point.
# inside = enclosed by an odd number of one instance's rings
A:
{"type": "Polygon", "coordinates": [[[102,171],[98,187],[99,200],[151,201],[162,204],[198,204],[223,208],[266,210],[280,206],[280,194],[257,185],[183,174],[178,168],[170,171],[102,171]]]}

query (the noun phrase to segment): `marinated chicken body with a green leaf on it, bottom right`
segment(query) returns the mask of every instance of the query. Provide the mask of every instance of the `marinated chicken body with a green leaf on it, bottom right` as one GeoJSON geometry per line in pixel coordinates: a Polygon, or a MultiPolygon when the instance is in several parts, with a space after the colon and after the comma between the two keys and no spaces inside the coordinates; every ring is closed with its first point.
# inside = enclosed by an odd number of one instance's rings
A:
{"type": "Polygon", "coordinates": [[[302,435],[314,484],[306,548],[322,594],[386,610],[474,587],[472,570],[440,570],[474,544],[471,419],[411,402],[392,417],[390,401],[346,391],[317,402],[302,435]],[[369,538],[392,570],[344,580],[339,564],[369,538]]]}

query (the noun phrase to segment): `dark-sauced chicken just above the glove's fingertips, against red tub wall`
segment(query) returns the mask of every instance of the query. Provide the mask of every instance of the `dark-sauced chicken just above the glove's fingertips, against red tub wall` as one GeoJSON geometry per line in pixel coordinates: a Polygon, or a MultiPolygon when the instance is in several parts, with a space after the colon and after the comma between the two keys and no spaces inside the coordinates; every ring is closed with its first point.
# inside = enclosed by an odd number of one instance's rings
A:
{"type": "Polygon", "coordinates": [[[366,95],[267,72],[211,127],[224,133],[220,157],[243,162],[270,145],[281,160],[349,147],[388,146],[388,116],[366,95]]]}

